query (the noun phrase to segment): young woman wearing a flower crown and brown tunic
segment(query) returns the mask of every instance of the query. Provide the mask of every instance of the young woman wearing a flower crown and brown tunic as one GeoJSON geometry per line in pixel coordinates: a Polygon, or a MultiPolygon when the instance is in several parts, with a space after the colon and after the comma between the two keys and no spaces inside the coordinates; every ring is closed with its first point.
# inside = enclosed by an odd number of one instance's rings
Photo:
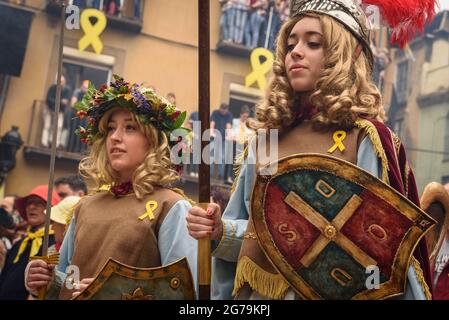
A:
{"type": "MultiPolygon", "coordinates": [[[[170,161],[170,134],[185,113],[152,89],[115,81],[96,90],[89,87],[76,105],[78,116],[89,117],[77,134],[91,144],[80,172],[97,192],[81,199],[73,212],[54,268],[64,284],[66,267],[79,268],[80,288],[62,285],[59,298],[69,299],[86,288],[109,258],[138,267],[160,267],[187,257],[196,274],[197,241],[186,229],[191,204],[171,185],[179,178],[170,161]]],[[[29,266],[27,286],[47,285],[53,267],[43,261],[29,266]]]]}

